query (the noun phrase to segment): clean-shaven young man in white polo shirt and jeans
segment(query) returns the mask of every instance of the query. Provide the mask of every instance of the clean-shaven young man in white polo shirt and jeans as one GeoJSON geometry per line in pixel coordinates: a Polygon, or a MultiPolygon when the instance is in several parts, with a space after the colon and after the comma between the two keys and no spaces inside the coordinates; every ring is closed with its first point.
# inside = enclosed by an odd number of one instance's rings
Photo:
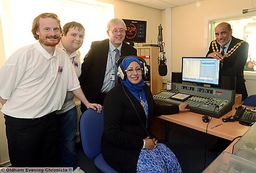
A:
{"type": "MultiPolygon", "coordinates": [[[[68,22],[63,26],[60,43],[56,45],[56,47],[66,51],[77,77],[81,75],[81,53],[78,49],[83,44],[84,32],[84,27],[80,23],[68,22]]],[[[57,110],[55,113],[59,119],[61,167],[73,167],[74,173],[84,173],[78,167],[75,152],[74,138],[77,131],[77,116],[74,94],[72,92],[67,92],[61,110],[57,110]]]]}

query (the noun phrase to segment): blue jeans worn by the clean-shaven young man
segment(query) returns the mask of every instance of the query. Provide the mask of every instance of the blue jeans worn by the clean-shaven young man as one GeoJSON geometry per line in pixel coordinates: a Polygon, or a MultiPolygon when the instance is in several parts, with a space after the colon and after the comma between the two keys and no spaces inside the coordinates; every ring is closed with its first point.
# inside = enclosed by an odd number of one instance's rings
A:
{"type": "Polygon", "coordinates": [[[61,145],[61,167],[78,167],[74,136],[77,130],[76,107],[58,115],[61,145]]]}

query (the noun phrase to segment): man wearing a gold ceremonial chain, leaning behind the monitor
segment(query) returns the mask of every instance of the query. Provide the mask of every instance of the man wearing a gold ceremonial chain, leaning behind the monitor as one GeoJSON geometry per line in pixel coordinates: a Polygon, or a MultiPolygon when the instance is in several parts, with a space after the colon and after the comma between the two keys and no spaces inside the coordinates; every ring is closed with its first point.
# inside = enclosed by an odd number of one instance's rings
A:
{"type": "Polygon", "coordinates": [[[222,22],[215,28],[216,40],[209,46],[207,57],[221,60],[221,75],[236,76],[236,93],[242,94],[242,101],[248,96],[243,77],[243,68],[248,58],[249,45],[232,36],[229,23],[222,22]]]}

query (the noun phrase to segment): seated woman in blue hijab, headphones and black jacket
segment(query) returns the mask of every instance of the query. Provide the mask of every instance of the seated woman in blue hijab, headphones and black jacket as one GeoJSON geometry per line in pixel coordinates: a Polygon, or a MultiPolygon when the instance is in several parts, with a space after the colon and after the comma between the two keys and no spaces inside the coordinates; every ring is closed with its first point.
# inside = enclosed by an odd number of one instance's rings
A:
{"type": "Polygon", "coordinates": [[[188,104],[155,104],[150,88],[142,79],[139,57],[126,57],[119,66],[123,68],[123,80],[104,100],[101,138],[104,159],[119,173],[182,173],[172,151],[150,134],[150,125],[152,116],[188,111],[188,104]]]}

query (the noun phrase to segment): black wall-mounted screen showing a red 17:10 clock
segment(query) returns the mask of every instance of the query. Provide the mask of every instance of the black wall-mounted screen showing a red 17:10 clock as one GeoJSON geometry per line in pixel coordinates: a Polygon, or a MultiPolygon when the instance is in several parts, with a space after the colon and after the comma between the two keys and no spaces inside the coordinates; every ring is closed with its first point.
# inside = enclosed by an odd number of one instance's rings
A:
{"type": "Polygon", "coordinates": [[[146,43],[147,21],[123,19],[127,30],[124,38],[129,43],[146,43]]]}

